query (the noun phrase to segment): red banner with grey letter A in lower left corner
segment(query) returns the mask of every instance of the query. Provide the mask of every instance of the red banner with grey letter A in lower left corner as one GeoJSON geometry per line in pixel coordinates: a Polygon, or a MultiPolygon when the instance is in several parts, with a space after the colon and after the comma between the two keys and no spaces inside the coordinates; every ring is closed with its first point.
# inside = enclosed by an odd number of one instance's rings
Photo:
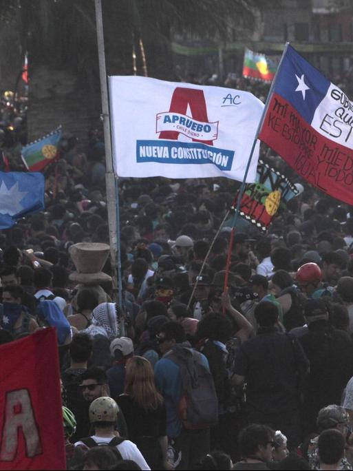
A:
{"type": "Polygon", "coordinates": [[[0,346],[0,470],[65,470],[54,328],[0,346]]]}

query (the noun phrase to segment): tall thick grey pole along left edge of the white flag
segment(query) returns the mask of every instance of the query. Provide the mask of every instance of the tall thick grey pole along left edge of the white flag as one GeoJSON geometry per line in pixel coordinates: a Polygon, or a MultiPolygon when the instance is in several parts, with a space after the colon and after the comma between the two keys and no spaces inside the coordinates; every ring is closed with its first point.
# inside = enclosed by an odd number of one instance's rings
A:
{"type": "MultiPolygon", "coordinates": [[[[118,304],[122,306],[122,284],[121,284],[121,262],[120,262],[120,225],[119,225],[119,205],[118,205],[118,182],[114,174],[113,158],[111,153],[111,134],[108,104],[107,72],[105,67],[105,48],[103,34],[102,1],[94,0],[96,9],[96,29],[98,45],[98,61],[100,76],[100,94],[102,98],[102,118],[105,142],[105,182],[107,185],[107,210],[109,224],[109,242],[111,266],[113,269],[113,287],[116,293],[118,284],[118,304]]],[[[124,326],[122,326],[122,335],[124,335],[124,326]]]]}

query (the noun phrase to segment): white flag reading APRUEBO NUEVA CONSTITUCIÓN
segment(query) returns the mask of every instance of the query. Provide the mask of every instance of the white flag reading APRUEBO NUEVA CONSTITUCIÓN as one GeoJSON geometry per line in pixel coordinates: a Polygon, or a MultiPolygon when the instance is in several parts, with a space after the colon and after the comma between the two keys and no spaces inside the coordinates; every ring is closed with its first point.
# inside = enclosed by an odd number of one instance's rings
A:
{"type": "MultiPolygon", "coordinates": [[[[114,169],[122,177],[242,181],[264,104],[231,88],[109,77],[114,169]]],[[[246,182],[256,178],[259,142],[246,182]]]]}

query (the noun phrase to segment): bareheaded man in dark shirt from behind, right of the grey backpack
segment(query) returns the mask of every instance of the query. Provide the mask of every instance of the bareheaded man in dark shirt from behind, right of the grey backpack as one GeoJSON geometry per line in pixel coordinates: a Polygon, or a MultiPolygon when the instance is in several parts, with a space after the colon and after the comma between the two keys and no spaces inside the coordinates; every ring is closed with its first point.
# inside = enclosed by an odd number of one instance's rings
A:
{"type": "Polygon", "coordinates": [[[275,304],[257,304],[255,318],[257,336],[240,346],[235,358],[235,380],[247,385],[244,419],[282,430],[292,448],[301,437],[297,380],[308,373],[309,362],[295,337],[275,328],[275,304]]]}

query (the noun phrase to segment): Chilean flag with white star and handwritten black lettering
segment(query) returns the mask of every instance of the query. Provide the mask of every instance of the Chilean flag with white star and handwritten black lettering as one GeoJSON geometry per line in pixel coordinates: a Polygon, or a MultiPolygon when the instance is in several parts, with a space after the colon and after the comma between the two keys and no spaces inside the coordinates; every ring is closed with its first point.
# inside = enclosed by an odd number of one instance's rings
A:
{"type": "Polygon", "coordinates": [[[259,139],[314,187],[353,205],[353,103],[288,45],[259,139]]]}

